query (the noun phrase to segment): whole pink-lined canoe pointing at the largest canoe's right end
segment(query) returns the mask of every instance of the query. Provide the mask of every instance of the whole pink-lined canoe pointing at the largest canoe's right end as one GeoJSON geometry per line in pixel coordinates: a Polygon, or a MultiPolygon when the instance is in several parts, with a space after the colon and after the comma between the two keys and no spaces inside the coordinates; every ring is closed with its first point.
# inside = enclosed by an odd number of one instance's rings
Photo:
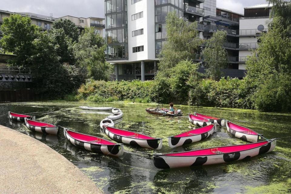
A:
{"type": "Polygon", "coordinates": [[[227,131],[232,134],[234,137],[242,139],[249,142],[260,142],[263,141],[262,135],[258,134],[256,131],[253,131],[249,128],[234,124],[230,121],[226,121],[227,131]]]}

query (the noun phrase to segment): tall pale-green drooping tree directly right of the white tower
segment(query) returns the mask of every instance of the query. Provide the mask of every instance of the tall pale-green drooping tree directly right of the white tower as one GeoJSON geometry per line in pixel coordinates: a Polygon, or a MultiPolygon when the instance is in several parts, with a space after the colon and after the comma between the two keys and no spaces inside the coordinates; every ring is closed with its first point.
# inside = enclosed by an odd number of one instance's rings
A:
{"type": "Polygon", "coordinates": [[[176,12],[166,16],[166,41],[160,52],[159,70],[166,71],[176,66],[182,60],[196,58],[196,50],[201,44],[197,38],[197,22],[189,24],[179,18],[176,12]]]}

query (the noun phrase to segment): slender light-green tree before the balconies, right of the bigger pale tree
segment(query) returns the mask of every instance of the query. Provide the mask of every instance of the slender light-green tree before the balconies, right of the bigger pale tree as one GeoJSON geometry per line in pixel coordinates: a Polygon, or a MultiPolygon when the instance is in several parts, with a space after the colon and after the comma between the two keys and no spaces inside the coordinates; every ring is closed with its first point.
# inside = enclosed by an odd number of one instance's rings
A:
{"type": "Polygon", "coordinates": [[[206,41],[205,49],[202,51],[204,63],[206,66],[206,76],[219,80],[222,76],[221,68],[224,68],[227,63],[226,49],[222,48],[226,42],[226,31],[219,30],[206,41]]]}

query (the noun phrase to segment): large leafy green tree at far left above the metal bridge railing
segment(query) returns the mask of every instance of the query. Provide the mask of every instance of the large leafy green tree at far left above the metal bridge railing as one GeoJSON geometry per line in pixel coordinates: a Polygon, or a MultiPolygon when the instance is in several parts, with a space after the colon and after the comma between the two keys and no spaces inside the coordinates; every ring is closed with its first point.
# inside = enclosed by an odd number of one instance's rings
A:
{"type": "Polygon", "coordinates": [[[0,40],[2,49],[17,55],[10,63],[15,66],[28,66],[28,58],[34,50],[32,42],[41,29],[32,25],[29,17],[18,14],[4,18],[1,29],[3,32],[3,38],[0,40]]]}

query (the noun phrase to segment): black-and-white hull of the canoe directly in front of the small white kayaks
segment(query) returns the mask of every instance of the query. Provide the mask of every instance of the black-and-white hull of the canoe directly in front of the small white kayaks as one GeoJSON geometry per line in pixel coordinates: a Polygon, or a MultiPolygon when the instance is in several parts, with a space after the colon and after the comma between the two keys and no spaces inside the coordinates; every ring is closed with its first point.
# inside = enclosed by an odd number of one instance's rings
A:
{"type": "Polygon", "coordinates": [[[162,148],[162,139],[136,139],[126,136],[121,136],[109,131],[106,126],[103,126],[103,133],[105,133],[109,138],[121,142],[123,144],[139,146],[142,148],[160,150],[162,148]]]}

